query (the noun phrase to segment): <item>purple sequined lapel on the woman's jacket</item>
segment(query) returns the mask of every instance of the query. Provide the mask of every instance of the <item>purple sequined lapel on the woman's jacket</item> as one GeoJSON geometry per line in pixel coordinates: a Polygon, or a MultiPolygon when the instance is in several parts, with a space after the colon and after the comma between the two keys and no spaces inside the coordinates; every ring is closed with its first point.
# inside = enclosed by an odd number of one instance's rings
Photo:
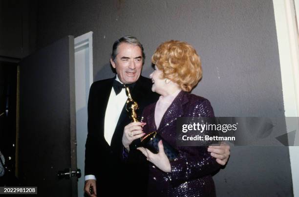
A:
{"type": "Polygon", "coordinates": [[[175,120],[184,114],[184,105],[188,102],[186,92],[181,91],[173,100],[169,108],[165,111],[158,131],[163,131],[166,127],[175,123],[175,120]]]}

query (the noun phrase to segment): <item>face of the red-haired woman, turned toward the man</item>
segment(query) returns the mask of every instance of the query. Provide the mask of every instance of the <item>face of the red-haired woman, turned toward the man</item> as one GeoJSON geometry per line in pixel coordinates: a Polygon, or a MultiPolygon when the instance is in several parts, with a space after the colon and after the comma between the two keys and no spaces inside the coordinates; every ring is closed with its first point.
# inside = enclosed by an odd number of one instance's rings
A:
{"type": "Polygon", "coordinates": [[[155,65],[154,71],[149,75],[149,78],[152,81],[151,91],[157,92],[158,94],[165,95],[167,84],[165,79],[162,79],[162,71],[157,68],[155,65]]]}

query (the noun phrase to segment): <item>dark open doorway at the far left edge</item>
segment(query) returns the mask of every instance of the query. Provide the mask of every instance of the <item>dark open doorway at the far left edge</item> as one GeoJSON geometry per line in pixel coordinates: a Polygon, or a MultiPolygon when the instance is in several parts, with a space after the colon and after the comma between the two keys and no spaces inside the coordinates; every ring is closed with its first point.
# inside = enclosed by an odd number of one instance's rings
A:
{"type": "Polygon", "coordinates": [[[17,63],[0,61],[0,152],[5,158],[5,174],[0,185],[16,186],[17,63]]]}

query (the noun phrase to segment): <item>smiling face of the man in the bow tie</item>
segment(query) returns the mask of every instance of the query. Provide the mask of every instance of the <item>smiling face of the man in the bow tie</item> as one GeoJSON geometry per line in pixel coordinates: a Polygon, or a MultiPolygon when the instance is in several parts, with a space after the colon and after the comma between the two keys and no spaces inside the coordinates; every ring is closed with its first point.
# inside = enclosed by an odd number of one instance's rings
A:
{"type": "Polygon", "coordinates": [[[138,80],[142,69],[142,52],[138,45],[121,43],[117,47],[115,60],[110,59],[120,81],[131,84],[138,80]]]}

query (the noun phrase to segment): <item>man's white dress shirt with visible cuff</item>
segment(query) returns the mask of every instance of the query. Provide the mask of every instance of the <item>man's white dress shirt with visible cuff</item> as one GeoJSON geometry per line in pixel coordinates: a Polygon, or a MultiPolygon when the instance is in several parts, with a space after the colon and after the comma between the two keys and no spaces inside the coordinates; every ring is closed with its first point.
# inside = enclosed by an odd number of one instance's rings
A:
{"type": "MultiPolygon", "coordinates": [[[[116,75],[116,81],[122,83],[116,75]]],[[[122,83],[123,84],[123,83],[122,83]]],[[[115,94],[113,87],[111,88],[107,109],[105,112],[104,123],[104,137],[109,145],[111,145],[111,139],[115,131],[119,116],[125,106],[128,99],[125,88],[119,94],[115,94]]],[[[96,179],[95,175],[85,175],[85,180],[96,179]]]]}

